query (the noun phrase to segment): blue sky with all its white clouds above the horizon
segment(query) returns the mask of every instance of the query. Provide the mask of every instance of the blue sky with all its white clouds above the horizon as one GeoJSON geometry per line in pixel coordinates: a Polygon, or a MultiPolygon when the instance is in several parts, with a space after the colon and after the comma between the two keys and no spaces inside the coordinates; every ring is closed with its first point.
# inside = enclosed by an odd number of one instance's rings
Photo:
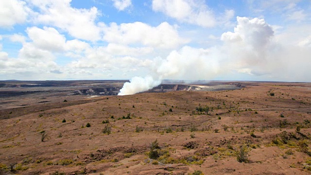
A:
{"type": "Polygon", "coordinates": [[[1,0],[0,80],[311,81],[310,0],[1,0]]]}

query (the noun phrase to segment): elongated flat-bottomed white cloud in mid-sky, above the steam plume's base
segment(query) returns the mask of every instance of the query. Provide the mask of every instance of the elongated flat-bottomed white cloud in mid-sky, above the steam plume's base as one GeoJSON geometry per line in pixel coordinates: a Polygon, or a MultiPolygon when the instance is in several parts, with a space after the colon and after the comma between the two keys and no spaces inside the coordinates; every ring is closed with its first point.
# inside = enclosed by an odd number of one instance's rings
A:
{"type": "Polygon", "coordinates": [[[110,43],[142,44],[158,48],[175,48],[187,41],[178,35],[176,28],[167,22],[152,27],[142,22],[111,23],[104,27],[104,40],[110,43]]]}

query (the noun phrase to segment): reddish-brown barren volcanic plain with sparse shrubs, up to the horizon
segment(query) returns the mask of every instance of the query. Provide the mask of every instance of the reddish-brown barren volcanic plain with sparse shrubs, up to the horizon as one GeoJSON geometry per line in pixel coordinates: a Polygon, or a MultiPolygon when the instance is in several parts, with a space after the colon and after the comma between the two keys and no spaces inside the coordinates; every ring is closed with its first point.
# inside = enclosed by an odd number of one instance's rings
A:
{"type": "Polygon", "coordinates": [[[311,173],[311,83],[124,82],[1,82],[0,174],[311,173]]]}

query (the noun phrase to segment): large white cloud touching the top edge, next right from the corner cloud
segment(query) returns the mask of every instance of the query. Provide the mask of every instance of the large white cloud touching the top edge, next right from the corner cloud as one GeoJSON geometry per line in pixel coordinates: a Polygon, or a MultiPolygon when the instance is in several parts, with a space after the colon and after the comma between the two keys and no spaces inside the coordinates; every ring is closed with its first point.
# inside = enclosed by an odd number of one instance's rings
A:
{"type": "Polygon", "coordinates": [[[100,12],[96,7],[76,9],[70,5],[71,0],[31,0],[40,9],[34,21],[65,30],[69,35],[85,40],[101,38],[101,23],[96,24],[100,12]]]}

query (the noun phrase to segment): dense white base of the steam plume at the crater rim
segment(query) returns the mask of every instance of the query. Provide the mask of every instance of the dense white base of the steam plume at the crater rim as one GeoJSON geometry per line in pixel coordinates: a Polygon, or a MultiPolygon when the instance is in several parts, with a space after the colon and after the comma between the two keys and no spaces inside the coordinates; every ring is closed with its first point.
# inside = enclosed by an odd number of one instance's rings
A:
{"type": "Polygon", "coordinates": [[[152,76],[133,77],[129,82],[124,83],[118,95],[131,95],[154,88],[161,84],[161,80],[154,80],[152,76]]]}

